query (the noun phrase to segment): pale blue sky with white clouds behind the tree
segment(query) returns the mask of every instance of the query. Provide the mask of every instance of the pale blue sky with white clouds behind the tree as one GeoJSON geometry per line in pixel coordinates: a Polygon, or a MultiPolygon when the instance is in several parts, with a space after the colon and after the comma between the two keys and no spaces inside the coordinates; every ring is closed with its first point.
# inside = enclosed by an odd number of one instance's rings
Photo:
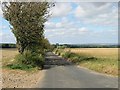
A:
{"type": "MultiPolygon", "coordinates": [[[[117,2],[57,2],[50,14],[44,35],[52,44],[118,43],[117,2]]],[[[0,21],[0,43],[16,43],[1,10],[0,21]]]]}

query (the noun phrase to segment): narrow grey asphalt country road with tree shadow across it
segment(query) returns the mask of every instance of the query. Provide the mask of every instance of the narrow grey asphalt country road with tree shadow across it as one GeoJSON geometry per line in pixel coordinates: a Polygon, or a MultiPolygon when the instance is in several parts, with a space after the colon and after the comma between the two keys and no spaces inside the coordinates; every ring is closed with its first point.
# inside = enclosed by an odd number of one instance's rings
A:
{"type": "Polygon", "coordinates": [[[118,78],[77,67],[48,52],[37,88],[118,88],[118,78]]]}

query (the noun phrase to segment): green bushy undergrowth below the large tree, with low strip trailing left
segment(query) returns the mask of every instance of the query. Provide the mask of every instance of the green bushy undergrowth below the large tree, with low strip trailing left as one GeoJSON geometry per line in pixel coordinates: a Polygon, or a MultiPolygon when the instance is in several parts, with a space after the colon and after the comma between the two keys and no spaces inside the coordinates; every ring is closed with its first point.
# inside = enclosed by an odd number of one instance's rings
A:
{"type": "Polygon", "coordinates": [[[34,67],[43,68],[44,65],[44,56],[31,51],[24,51],[23,54],[18,54],[15,60],[17,61],[14,64],[8,64],[7,67],[27,70],[34,67]]]}

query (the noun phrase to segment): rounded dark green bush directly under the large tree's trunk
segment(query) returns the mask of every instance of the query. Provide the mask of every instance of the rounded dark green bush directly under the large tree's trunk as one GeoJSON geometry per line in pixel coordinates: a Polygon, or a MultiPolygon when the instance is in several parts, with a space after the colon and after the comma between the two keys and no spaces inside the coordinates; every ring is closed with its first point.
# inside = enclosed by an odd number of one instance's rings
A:
{"type": "Polygon", "coordinates": [[[31,65],[33,67],[40,67],[44,64],[44,56],[31,51],[25,51],[23,54],[17,55],[16,60],[20,64],[31,65]]]}

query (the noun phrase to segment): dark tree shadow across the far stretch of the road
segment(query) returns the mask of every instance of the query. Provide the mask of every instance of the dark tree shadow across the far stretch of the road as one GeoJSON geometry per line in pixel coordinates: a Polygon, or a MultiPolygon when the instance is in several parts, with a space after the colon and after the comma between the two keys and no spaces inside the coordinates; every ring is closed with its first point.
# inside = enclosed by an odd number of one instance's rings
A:
{"type": "Polygon", "coordinates": [[[49,69],[55,66],[66,66],[66,65],[73,65],[73,63],[55,55],[52,52],[47,52],[45,57],[45,64],[43,69],[49,69]]]}

